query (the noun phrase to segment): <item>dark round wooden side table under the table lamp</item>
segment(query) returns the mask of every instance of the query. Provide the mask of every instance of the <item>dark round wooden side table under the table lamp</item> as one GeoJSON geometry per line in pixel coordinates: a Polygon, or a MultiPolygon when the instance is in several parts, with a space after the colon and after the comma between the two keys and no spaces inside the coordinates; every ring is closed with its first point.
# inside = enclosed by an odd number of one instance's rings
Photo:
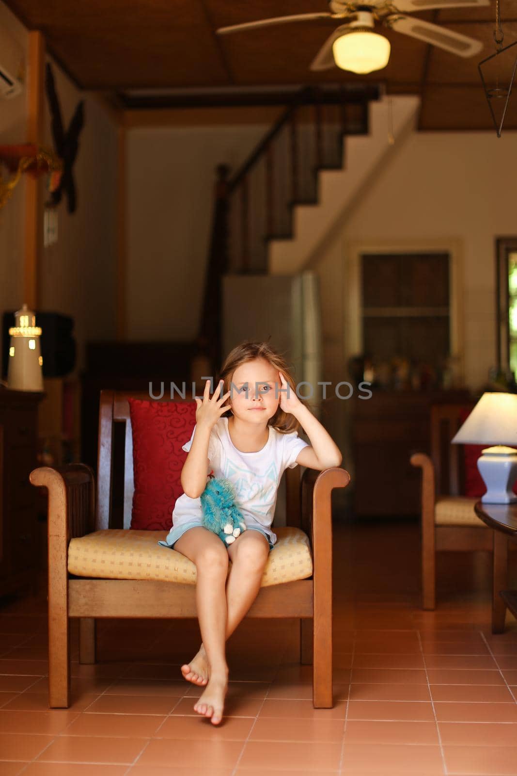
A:
{"type": "Polygon", "coordinates": [[[494,590],[492,633],[505,630],[506,608],[517,617],[517,591],[501,590],[508,584],[508,539],[517,539],[517,504],[484,504],[476,501],[477,517],[494,529],[494,590]]]}

